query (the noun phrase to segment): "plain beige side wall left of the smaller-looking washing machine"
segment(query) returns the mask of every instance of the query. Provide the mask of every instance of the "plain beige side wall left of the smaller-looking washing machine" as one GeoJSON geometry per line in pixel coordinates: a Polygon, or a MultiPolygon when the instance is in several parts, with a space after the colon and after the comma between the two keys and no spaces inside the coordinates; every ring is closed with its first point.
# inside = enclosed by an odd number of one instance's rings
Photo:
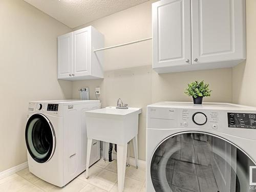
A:
{"type": "Polygon", "coordinates": [[[0,1],[0,172],[27,161],[29,100],[72,98],[57,80],[57,36],[67,26],[22,0],[0,1]]]}

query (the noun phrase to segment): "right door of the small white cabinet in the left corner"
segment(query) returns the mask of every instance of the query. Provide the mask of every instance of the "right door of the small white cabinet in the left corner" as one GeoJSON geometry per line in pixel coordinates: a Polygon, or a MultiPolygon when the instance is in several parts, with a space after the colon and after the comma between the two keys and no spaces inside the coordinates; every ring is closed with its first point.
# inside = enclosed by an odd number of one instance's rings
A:
{"type": "Polygon", "coordinates": [[[90,75],[91,31],[83,28],[73,32],[73,76],[90,75]]]}

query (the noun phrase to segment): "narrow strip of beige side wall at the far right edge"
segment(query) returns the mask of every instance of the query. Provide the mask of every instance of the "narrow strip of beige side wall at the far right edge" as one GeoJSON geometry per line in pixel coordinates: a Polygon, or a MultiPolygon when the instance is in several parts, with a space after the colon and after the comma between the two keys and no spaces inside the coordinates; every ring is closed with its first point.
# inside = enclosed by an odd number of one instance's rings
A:
{"type": "Polygon", "coordinates": [[[246,61],[232,71],[233,102],[256,106],[256,1],[246,1],[246,61]]]}

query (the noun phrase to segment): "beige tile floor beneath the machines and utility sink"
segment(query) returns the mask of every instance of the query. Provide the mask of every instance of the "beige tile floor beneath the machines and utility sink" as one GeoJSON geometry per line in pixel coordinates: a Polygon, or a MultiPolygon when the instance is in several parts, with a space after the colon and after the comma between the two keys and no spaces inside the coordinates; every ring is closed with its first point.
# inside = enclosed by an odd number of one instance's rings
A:
{"type": "MultiPolygon", "coordinates": [[[[0,180],[1,192],[115,192],[117,189],[117,163],[100,160],[90,167],[90,178],[86,179],[85,172],[75,178],[65,187],[56,187],[29,172],[28,168],[0,180]]],[[[134,166],[126,167],[124,192],[145,192],[145,170],[134,166]]]]}

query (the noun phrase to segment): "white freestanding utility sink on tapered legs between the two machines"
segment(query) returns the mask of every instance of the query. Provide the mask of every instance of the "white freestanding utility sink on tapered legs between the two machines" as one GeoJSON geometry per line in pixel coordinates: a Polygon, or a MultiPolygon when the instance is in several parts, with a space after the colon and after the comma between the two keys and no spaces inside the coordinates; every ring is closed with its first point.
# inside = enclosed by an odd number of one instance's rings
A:
{"type": "Polygon", "coordinates": [[[114,106],[86,112],[87,164],[86,178],[89,177],[89,161],[93,139],[117,144],[118,192],[123,192],[127,143],[133,140],[135,163],[138,167],[138,122],[141,108],[116,109],[114,106]]]}

